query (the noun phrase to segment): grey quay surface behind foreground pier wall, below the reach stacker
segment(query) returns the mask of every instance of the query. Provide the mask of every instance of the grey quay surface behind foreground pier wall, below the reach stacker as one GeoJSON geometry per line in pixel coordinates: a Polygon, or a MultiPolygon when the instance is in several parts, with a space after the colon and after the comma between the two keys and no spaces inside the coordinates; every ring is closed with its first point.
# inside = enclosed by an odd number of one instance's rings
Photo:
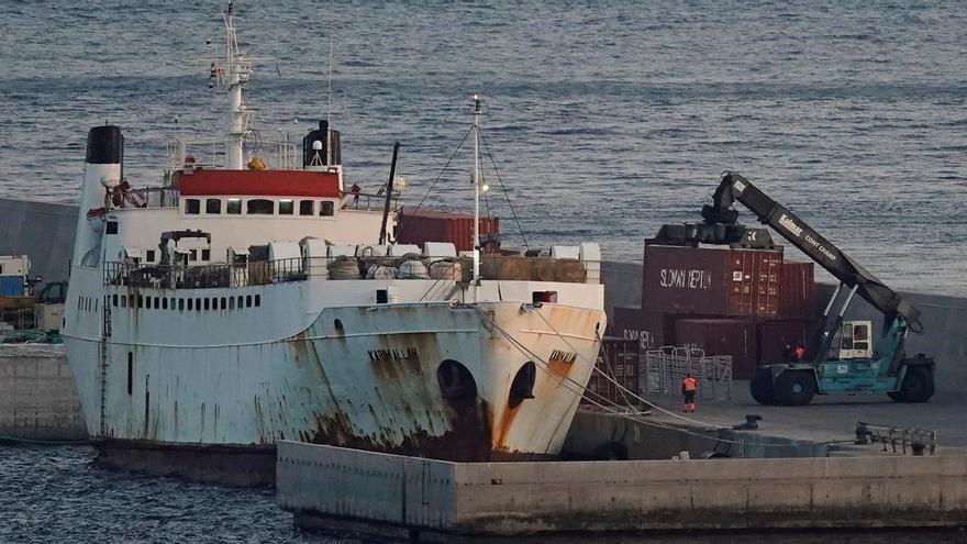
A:
{"type": "Polygon", "coordinates": [[[700,399],[696,413],[681,413],[680,398],[675,395],[648,395],[646,400],[656,408],[644,407],[649,412],[644,414],[579,410],[563,457],[669,459],[680,452],[692,458],[709,454],[734,458],[902,455],[899,444],[896,454],[881,443],[854,444],[860,421],[934,431],[936,455],[967,455],[967,399],[946,392],[922,404],[893,402],[885,395],[857,395],[816,397],[804,407],[766,407],[748,395],[747,381],[736,381],[731,400],[700,399]],[[747,414],[763,418],[758,430],[731,429],[747,414]]]}

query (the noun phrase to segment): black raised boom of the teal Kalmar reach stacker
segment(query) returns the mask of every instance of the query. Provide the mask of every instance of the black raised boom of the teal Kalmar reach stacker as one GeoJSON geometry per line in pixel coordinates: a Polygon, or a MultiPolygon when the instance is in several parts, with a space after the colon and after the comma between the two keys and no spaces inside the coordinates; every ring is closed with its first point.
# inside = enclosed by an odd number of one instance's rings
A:
{"type": "Polygon", "coordinates": [[[748,208],[760,222],[771,226],[844,285],[851,288],[855,286],[856,292],[882,312],[887,320],[899,315],[911,330],[921,329],[920,310],[738,174],[727,170],[722,174],[712,204],[702,208],[705,223],[734,224],[738,217],[732,209],[735,201],[748,208]]]}

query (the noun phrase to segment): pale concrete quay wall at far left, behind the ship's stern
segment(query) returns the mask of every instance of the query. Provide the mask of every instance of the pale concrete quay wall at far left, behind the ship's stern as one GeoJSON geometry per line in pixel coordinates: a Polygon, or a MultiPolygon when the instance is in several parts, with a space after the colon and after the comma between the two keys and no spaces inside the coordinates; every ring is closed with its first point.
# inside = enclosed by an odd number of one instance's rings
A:
{"type": "Polygon", "coordinates": [[[0,436],[87,438],[63,345],[0,344],[0,436]]]}

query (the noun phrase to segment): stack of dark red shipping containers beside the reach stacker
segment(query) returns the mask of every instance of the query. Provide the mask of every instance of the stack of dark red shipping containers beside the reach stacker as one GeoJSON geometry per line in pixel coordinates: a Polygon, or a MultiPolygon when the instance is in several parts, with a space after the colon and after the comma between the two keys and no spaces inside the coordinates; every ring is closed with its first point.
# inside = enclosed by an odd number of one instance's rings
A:
{"type": "Polygon", "coordinates": [[[731,355],[733,377],[748,379],[787,344],[807,344],[814,320],[813,264],[786,263],[781,247],[646,244],[642,306],[616,307],[612,334],[643,351],[731,355]]]}

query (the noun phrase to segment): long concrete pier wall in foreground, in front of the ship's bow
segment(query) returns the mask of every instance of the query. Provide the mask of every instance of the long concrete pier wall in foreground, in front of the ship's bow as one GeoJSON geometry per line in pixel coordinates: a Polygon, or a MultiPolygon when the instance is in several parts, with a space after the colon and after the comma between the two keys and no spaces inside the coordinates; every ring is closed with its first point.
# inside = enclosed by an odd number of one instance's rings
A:
{"type": "Polygon", "coordinates": [[[463,534],[945,526],[967,522],[967,457],[454,464],[286,441],[277,499],[463,534]]]}

